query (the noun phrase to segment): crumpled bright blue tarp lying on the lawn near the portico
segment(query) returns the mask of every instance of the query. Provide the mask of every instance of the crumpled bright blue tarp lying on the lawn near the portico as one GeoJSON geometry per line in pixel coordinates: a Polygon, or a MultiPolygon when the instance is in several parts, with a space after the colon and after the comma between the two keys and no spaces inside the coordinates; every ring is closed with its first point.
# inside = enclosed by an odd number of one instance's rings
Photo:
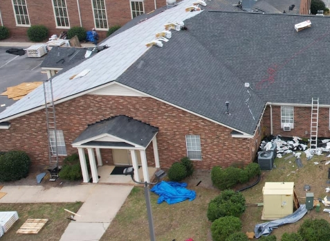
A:
{"type": "Polygon", "coordinates": [[[187,184],[176,181],[161,181],[156,184],[151,191],[159,195],[157,203],[167,202],[167,204],[176,204],[183,202],[185,199],[192,201],[196,198],[194,190],[185,188],[187,184]]]}

